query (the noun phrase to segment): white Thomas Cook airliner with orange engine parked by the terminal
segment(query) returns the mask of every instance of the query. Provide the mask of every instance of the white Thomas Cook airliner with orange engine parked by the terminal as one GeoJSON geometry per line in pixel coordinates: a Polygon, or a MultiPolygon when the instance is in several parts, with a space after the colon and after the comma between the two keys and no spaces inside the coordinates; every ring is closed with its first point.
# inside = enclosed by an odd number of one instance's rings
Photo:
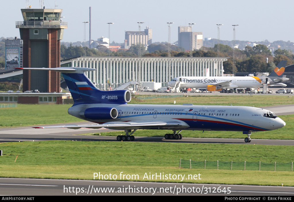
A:
{"type": "Polygon", "coordinates": [[[172,79],[168,86],[181,88],[206,88],[208,91],[221,91],[228,88],[259,88],[263,83],[269,85],[281,85],[289,78],[283,77],[287,60],[282,60],[270,75],[257,76],[183,76],[172,79]]]}

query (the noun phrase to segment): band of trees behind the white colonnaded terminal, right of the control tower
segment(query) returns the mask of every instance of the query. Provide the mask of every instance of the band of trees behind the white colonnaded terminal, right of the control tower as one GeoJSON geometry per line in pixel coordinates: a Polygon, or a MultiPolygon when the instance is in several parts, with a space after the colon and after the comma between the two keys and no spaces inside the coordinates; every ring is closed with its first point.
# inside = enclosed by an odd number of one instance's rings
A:
{"type": "MultiPolygon", "coordinates": [[[[146,47],[142,44],[132,45],[130,49],[119,49],[117,52],[109,51],[105,46],[97,46],[96,49],[69,46],[61,44],[61,59],[75,58],[83,56],[86,52],[88,57],[138,57],[141,49],[142,57],[168,57],[168,48],[171,50],[171,57],[189,57],[190,53],[182,47],[169,44],[151,44],[146,47]]],[[[223,63],[224,73],[233,73],[233,48],[228,45],[215,44],[214,47],[202,47],[200,50],[193,51],[193,57],[227,57],[228,60],[223,63]],[[218,47],[219,46],[219,47],[218,47]]],[[[294,55],[291,50],[276,49],[273,54],[267,46],[257,44],[253,47],[245,46],[244,50],[235,48],[235,67],[236,72],[271,72],[281,60],[287,60],[287,65],[294,63],[294,55]]]]}

